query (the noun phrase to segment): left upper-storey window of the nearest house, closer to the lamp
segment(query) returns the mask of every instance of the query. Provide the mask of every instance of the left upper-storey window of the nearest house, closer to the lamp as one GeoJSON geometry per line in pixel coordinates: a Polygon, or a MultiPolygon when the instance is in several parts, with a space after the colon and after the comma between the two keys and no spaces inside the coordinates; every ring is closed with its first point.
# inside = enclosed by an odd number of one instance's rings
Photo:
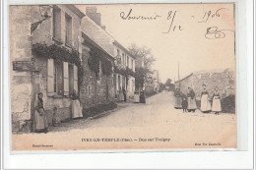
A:
{"type": "Polygon", "coordinates": [[[61,11],[59,8],[53,8],[53,37],[57,40],[61,40],[61,11]]]}

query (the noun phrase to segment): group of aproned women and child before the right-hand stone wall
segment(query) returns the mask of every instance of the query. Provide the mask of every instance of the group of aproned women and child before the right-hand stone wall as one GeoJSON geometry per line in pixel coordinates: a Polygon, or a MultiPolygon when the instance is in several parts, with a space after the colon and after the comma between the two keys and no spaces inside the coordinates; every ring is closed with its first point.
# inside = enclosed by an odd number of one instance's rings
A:
{"type": "MultiPolygon", "coordinates": [[[[212,97],[213,103],[211,104],[209,92],[206,89],[206,85],[202,85],[203,90],[201,92],[201,111],[203,113],[209,113],[211,111],[215,112],[215,114],[220,114],[222,111],[221,106],[221,95],[219,91],[219,87],[215,87],[215,91],[212,97]]],[[[197,109],[195,92],[191,87],[188,87],[187,95],[181,93],[179,88],[176,88],[175,93],[175,109],[183,109],[183,112],[195,112],[197,109]]]]}

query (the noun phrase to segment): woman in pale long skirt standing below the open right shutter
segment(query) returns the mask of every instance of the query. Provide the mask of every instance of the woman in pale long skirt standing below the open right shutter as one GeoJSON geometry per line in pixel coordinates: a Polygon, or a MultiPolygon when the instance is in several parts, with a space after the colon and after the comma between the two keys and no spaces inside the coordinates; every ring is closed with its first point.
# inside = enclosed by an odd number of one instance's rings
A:
{"type": "Polygon", "coordinates": [[[72,102],[71,102],[71,116],[72,118],[82,118],[82,107],[79,100],[79,96],[77,95],[76,90],[73,90],[72,94],[72,102]]]}

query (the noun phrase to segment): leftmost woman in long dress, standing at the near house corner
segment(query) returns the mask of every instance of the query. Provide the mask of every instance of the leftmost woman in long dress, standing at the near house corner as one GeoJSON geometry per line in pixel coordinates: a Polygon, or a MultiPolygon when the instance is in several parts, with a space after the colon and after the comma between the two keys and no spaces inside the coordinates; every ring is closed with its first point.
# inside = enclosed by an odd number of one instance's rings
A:
{"type": "Polygon", "coordinates": [[[42,96],[43,94],[39,92],[37,94],[37,99],[34,102],[33,131],[35,133],[44,132],[46,134],[48,132],[48,123],[43,108],[42,96]]]}

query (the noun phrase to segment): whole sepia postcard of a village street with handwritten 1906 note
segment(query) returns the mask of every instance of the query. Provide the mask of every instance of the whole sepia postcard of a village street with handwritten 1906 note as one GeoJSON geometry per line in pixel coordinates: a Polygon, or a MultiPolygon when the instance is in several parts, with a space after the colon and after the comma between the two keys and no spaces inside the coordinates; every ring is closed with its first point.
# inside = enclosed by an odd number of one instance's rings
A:
{"type": "Polygon", "coordinates": [[[234,7],[9,6],[12,150],[236,148],[234,7]]]}

